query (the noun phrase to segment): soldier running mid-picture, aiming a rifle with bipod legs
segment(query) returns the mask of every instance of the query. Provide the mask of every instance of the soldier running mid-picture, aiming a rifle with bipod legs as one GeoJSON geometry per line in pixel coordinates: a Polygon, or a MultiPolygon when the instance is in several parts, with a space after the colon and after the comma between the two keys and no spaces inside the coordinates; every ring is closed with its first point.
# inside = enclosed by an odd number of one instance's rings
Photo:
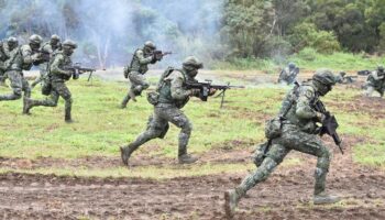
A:
{"type": "MultiPolygon", "coordinates": [[[[157,91],[156,101],[152,102],[154,114],[148,119],[147,130],[140,134],[131,144],[120,147],[123,164],[129,164],[131,154],[142,144],[152,139],[163,139],[168,130],[168,122],[180,128],[178,144],[178,161],[180,164],[190,164],[197,158],[187,154],[187,144],[191,134],[193,125],[180,109],[188,102],[189,98],[199,97],[199,89],[187,89],[186,81],[197,81],[195,77],[198,69],[204,65],[196,57],[189,56],[183,63],[182,69],[168,68],[162,76],[157,91]]],[[[215,89],[209,91],[212,96],[215,89]]],[[[150,100],[148,100],[150,101],[150,100]]]]}

